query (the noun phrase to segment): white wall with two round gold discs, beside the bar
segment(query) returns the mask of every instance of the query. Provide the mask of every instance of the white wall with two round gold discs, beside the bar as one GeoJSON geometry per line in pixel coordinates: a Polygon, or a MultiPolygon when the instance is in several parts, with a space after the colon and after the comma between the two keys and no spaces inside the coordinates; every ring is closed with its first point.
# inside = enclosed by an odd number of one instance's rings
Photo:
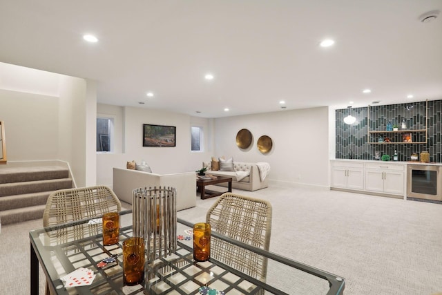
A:
{"type": "Polygon", "coordinates": [[[269,162],[269,180],[329,186],[329,110],[327,107],[280,111],[215,119],[215,156],[233,156],[238,162],[269,162]],[[236,146],[236,134],[249,129],[247,150],[236,146]],[[268,135],[273,147],[267,154],[256,142],[268,135]]]}

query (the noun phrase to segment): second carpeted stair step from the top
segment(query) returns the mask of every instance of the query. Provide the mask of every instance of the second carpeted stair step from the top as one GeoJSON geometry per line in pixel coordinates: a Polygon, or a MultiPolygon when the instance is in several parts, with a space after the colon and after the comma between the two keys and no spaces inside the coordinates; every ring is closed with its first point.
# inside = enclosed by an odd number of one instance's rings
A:
{"type": "Polygon", "coordinates": [[[4,183],[0,184],[0,197],[39,193],[42,191],[57,191],[57,189],[70,189],[71,187],[72,179],[70,178],[19,182],[19,184],[4,183]]]}

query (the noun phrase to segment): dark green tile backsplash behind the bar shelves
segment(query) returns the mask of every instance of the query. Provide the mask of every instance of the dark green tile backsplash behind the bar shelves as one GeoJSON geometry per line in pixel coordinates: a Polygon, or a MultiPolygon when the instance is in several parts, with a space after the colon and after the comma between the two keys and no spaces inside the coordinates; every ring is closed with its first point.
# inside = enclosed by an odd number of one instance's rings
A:
{"type": "Polygon", "coordinates": [[[441,112],[442,100],[336,110],[336,159],[374,160],[375,151],[392,157],[396,150],[399,161],[410,161],[410,155],[413,152],[428,151],[430,162],[442,162],[441,112]],[[426,105],[428,106],[427,113],[426,105]],[[356,117],[356,122],[352,125],[345,124],[344,117],[347,115],[356,117]],[[385,131],[388,122],[398,124],[399,130],[402,131],[403,119],[407,124],[405,130],[410,130],[412,133],[413,142],[425,142],[425,132],[417,133],[413,130],[425,129],[425,121],[427,121],[426,144],[370,143],[377,142],[380,135],[390,137],[392,142],[402,142],[401,133],[368,135],[368,131],[385,131]]]}

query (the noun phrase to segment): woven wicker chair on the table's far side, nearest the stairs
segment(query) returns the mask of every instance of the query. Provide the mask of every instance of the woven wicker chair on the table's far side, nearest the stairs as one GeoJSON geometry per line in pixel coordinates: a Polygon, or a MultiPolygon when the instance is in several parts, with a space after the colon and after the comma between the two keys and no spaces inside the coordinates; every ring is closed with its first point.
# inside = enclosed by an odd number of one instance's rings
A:
{"type": "MultiPolygon", "coordinates": [[[[119,212],[121,209],[121,202],[115,193],[105,186],[60,189],[48,197],[43,213],[43,226],[87,218],[102,218],[104,213],[119,212]]],[[[91,225],[88,229],[98,234],[99,226],[101,227],[97,224],[91,225]]],[[[66,234],[69,232],[66,229],[59,229],[55,237],[50,238],[54,238],[55,242],[63,242],[66,241],[66,234]]],[[[73,231],[75,238],[82,238],[82,233],[82,230],[73,231]]],[[[51,294],[47,280],[45,294],[51,294]]]]}

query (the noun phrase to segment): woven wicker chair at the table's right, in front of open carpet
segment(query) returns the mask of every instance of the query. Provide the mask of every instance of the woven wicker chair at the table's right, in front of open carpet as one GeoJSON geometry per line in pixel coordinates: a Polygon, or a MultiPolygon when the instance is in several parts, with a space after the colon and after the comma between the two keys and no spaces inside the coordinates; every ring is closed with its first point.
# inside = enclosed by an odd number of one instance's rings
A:
{"type": "MultiPolygon", "coordinates": [[[[211,231],[245,244],[269,250],[271,204],[235,193],[223,193],[207,211],[211,231]]],[[[265,282],[267,258],[252,251],[211,238],[211,258],[265,282]]]]}

